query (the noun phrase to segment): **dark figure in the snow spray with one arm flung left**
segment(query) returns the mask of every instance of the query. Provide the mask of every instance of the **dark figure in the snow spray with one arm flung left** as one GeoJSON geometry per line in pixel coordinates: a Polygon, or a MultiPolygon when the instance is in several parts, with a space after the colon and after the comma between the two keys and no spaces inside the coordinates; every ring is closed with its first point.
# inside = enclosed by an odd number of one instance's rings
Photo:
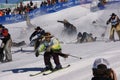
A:
{"type": "Polygon", "coordinates": [[[73,24],[69,23],[66,19],[64,19],[63,21],[58,20],[57,22],[64,24],[64,31],[67,32],[68,34],[76,34],[77,33],[76,27],[73,24]]]}

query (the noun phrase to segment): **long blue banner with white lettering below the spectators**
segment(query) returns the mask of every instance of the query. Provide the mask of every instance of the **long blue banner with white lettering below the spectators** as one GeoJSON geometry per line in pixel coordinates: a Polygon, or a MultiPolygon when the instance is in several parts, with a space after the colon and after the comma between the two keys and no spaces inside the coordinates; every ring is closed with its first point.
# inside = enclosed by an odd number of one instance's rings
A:
{"type": "MultiPolygon", "coordinates": [[[[120,1],[120,0],[112,0],[112,1],[120,1]]],[[[81,5],[81,4],[87,4],[91,2],[92,0],[68,0],[67,2],[60,2],[50,6],[42,6],[38,9],[35,9],[29,12],[28,15],[29,15],[29,18],[32,19],[40,15],[57,12],[65,8],[69,8],[69,7],[81,5]]],[[[26,15],[19,15],[19,14],[6,15],[6,16],[0,17],[1,24],[11,24],[11,23],[17,23],[25,20],[26,20],[26,15]]]]}

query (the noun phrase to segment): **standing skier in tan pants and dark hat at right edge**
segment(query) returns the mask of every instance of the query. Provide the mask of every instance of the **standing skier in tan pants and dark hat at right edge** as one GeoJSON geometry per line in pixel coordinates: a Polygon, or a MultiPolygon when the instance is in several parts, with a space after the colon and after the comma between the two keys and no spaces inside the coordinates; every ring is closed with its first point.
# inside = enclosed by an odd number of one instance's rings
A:
{"type": "Polygon", "coordinates": [[[111,17],[106,22],[106,24],[108,25],[109,23],[111,23],[109,39],[111,41],[115,41],[114,32],[116,31],[120,40],[120,18],[115,13],[112,13],[111,17]]]}

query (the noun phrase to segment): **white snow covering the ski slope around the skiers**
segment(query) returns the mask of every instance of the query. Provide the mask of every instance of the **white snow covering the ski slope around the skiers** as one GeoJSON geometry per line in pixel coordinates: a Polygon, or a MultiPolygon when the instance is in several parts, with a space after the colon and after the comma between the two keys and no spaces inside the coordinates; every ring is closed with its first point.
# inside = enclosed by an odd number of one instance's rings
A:
{"type": "MultiPolygon", "coordinates": [[[[120,7],[119,3],[115,4],[120,7]]],[[[112,6],[112,5],[111,5],[112,6]]],[[[113,6],[114,7],[114,6],[113,6]]],[[[97,12],[91,12],[89,4],[78,5],[76,7],[61,10],[59,12],[43,15],[31,20],[31,23],[40,26],[46,31],[51,32],[63,41],[62,52],[71,54],[83,59],[77,59],[69,56],[67,59],[60,57],[63,66],[70,64],[67,69],[55,72],[53,74],[43,76],[37,75],[30,77],[30,74],[39,72],[44,65],[43,56],[35,57],[34,52],[17,52],[21,48],[25,50],[33,50],[33,47],[28,45],[22,47],[12,47],[13,61],[8,63],[0,63],[0,80],[90,80],[92,78],[92,66],[96,58],[106,58],[110,62],[111,68],[115,70],[118,80],[120,79],[120,42],[104,42],[96,41],[82,44],[67,44],[76,40],[76,35],[65,35],[63,24],[57,20],[67,19],[77,27],[77,31],[93,33],[93,36],[101,37],[105,33],[105,38],[109,37],[110,25],[105,31],[105,22],[110,17],[112,12],[119,16],[119,8],[106,9],[97,12]],[[97,23],[92,24],[93,21],[97,23]],[[105,31],[105,32],[104,32],[105,31]]],[[[34,31],[34,27],[28,27],[26,22],[5,25],[11,33],[13,41],[25,40],[29,44],[29,36],[34,31]]],[[[116,34],[115,34],[116,35],[116,34]]],[[[118,39],[117,36],[115,36],[118,39]]],[[[43,54],[43,53],[41,53],[43,54]]],[[[54,65],[54,62],[52,60],[54,65]]],[[[55,66],[55,65],[54,65],[55,66]]]]}

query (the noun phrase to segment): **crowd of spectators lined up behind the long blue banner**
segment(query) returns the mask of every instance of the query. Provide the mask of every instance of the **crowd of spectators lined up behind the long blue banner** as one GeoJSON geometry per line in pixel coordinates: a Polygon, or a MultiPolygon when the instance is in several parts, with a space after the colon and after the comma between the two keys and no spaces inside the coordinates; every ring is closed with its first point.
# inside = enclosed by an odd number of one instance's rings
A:
{"type": "MultiPolygon", "coordinates": [[[[62,3],[62,2],[67,2],[68,0],[44,0],[41,2],[40,7],[43,6],[50,6],[50,5],[54,5],[57,3],[62,3]]],[[[16,15],[16,14],[25,14],[27,12],[30,12],[34,9],[37,9],[37,3],[33,3],[32,1],[30,1],[29,3],[27,3],[26,5],[23,4],[23,2],[20,2],[16,8],[14,9],[0,9],[0,16],[4,16],[4,15],[16,15]]]]}

